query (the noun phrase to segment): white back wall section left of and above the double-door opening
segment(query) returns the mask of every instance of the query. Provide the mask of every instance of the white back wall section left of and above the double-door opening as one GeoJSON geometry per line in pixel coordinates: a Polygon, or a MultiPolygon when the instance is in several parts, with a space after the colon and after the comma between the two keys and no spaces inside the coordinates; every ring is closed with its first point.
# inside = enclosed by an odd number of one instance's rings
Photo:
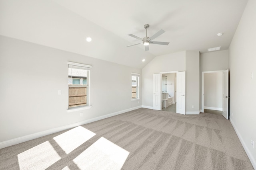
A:
{"type": "Polygon", "coordinates": [[[142,106],[153,107],[153,74],[186,70],[186,51],[155,57],[142,68],[142,106]]]}

